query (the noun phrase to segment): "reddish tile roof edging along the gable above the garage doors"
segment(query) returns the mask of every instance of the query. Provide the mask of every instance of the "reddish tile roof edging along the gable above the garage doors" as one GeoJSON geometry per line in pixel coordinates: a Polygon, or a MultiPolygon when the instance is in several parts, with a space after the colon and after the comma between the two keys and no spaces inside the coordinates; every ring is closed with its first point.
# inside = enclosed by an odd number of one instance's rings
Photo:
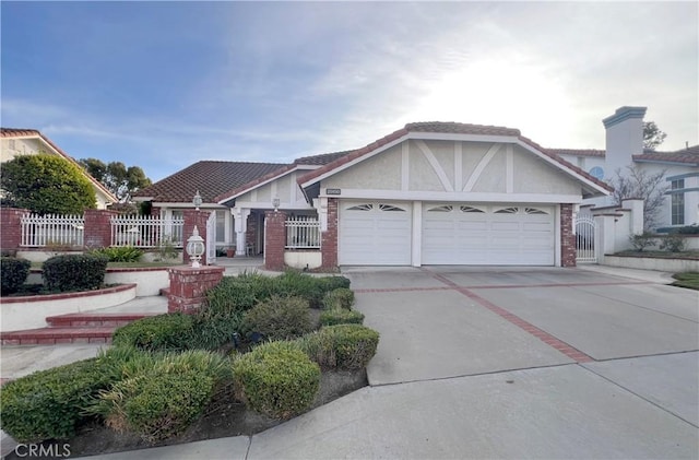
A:
{"type": "Polygon", "coordinates": [[[393,142],[404,137],[408,132],[441,132],[441,133],[457,133],[457,134],[516,137],[522,142],[529,144],[530,146],[534,148],[538,152],[543,153],[544,155],[550,157],[552,160],[555,160],[562,166],[576,172],[577,174],[590,180],[591,182],[596,184],[597,186],[604,188],[605,190],[608,190],[608,191],[613,190],[613,188],[609,185],[607,185],[606,182],[603,182],[602,180],[596,179],[595,177],[592,177],[590,174],[582,170],[578,166],[574,166],[571,163],[565,161],[554,151],[544,149],[543,146],[538,145],[536,142],[532,141],[531,139],[523,137],[519,129],[496,127],[496,126],[484,126],[484,125],[458,123],[453,121],[447,121],[447,122],[425,121],[425,122],[407,123],[405,125],[404,128],[399,129],[398,131],[394,131],[368,145],[365,145],[362,149],[351,151],[348,154],[341,156],[340,158],[333,161],[332,163],[329,163],[318,169],[315,169],[299,177],[298,184],[301,185],[312,179],[316,179],[317,177],[320,177],[328,172],[331,172],[342,165],[345,165],[356,158],[359,158],[370,152],[374,152],[375,150],[379,149],[382,145],[386,145],[387,143],[393,142]]]}

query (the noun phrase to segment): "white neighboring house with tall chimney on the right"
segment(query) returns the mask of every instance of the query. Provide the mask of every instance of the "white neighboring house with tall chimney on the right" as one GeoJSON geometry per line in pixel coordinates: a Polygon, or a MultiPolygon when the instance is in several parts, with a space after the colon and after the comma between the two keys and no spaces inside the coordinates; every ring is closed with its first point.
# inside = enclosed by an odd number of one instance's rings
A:
{"type": "MultiPolygon", "coordinates": [[[[638,167],[649,175],[663,173],[668,190],[656,214],[656,229],[699,223],[699,145],[676,152],[643,149],[643,116],[645,107],[620,107],[603,120],[606,129],[605,150],[549,149],[592,176],[609,181],[616,172],[627,166],[638,167]]],[[[638,198],[638,197],[633,197],[638,198]]],[[[583,204],[615,204],[609,198],[588,200],[583,204]]]]}

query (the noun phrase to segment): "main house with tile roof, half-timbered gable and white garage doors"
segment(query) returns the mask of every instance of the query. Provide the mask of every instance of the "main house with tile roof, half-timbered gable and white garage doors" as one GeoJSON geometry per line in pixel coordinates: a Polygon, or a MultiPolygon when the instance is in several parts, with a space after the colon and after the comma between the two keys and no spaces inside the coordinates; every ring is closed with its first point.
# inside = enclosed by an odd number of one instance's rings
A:
{"type": "Polygon", "coordinates": [[[574,264],[577,207],[612,191],[517,129],[457,122],[408,123],[362,149],[287,165],[200,162],[135,199],[165,214],[191,208],[197,189],[202,209],[230,210],[215,214],[217,241],[256,252],[264,211],[317,216],[324,267],[574,264]]]}

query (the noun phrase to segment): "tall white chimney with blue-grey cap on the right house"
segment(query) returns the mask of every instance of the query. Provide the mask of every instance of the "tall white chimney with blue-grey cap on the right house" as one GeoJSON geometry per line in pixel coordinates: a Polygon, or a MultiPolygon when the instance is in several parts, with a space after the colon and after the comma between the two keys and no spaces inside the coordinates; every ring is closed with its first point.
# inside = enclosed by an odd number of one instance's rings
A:
{"type": "Polygon", "coordinates": [[[615,177],[632,164],[631,155],[643,153],[643,116],[645,107],[619,107],[614,115],[602,120],[606,129],[606,158],[604,178],[615,177]]]}

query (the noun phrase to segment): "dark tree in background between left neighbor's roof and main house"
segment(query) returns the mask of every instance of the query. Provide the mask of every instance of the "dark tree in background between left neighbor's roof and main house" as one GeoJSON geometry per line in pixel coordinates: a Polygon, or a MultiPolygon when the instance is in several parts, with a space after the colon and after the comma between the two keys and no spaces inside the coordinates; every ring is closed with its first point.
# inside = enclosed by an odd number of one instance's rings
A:
{"type": "Polygon", "coordinates": [[[82,158],[78,163],[122,203],[131,201],[133,193],[152,184],[139,166],[127,167],[121,162],[105,164],[97,158],[82,158]]]}

